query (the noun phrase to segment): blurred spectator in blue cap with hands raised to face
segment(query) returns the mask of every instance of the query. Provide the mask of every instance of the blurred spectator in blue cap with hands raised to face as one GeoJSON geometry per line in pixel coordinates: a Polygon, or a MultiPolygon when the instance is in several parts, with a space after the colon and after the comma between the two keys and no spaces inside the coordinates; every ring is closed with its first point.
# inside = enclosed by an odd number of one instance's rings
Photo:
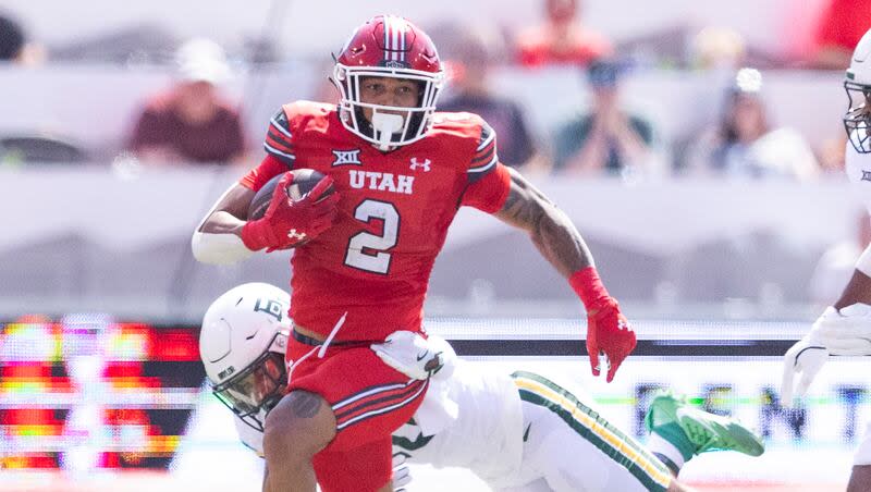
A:
{"type": "Polygon", "coordinates": [[[584,174],[628,174],[659,170],[653,125],[622,108],[619,78],[626,65],[598,61],[587,70],[592,109],[565,123],[554,142],[554,170],[584,174]]]}

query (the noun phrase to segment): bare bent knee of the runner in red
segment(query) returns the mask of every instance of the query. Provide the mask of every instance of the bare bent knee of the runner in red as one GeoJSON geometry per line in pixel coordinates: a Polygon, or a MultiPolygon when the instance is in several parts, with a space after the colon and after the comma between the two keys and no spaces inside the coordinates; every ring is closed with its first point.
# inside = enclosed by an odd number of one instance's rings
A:
{"type": "Polygon", "coordinates": [[[330,405],[315,393],[294,391],[269,413],[263,425],[267,456],[311,457],[335,435],[330,405]]]}

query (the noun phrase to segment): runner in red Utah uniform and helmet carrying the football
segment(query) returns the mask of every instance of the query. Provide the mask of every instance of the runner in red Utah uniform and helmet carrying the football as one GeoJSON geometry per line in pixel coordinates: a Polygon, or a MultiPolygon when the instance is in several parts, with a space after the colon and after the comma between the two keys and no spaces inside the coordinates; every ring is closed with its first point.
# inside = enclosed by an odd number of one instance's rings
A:
{"type": "Polygon", "coordinates": [[[437,113],[444,83],[429,36],[376,16],[343,47],[339,107],[285,104],[270,121],[267,157],[218,200],[192,241],[200,261],[296,247],[289,393],[265,425],[268,491],[390,490],[391,432],[409,420],[426,380],[409,380],[369,349],[421,331],[436,256],[461,206],[529,233],[587,309],[587,348],[611,381],[636,337],[571,221],[499,162],[493,130],[470,113],[437,113]],[[294,168],[326,177],[299,200],[280,190],[246,221],[266,182],[294,168]],[[334,193],[329,193],[335,189],[334,193]]]}

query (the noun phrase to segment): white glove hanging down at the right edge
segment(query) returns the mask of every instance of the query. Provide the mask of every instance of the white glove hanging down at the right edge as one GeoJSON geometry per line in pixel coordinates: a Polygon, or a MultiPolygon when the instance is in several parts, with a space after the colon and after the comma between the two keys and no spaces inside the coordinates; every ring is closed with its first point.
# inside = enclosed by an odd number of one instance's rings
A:
{"type": "Polygon", "coordinates": [[[784,356],[781,403],[793,406],[794,397],[808,391],[829,355],[871,355],[871,306],[854,304],[838,311],[825,308],[810,332],[784,356]],[[796,385],[795,374],[799,373],[796,385]]]}

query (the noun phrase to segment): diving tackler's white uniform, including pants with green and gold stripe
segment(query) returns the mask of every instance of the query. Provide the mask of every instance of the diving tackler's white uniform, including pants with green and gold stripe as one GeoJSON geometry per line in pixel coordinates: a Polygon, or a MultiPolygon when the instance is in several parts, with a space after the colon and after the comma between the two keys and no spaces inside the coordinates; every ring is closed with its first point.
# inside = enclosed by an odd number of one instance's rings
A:
{"type": "MultiPolygon", "coordinates": [[[[262,456],[262,434],[236,420],[240,438],[262,456]]],[[[430,380],[415,418],[393,433],[393,454],[406,463],[466,468],[493,490],[512,492],[664,492],[672,481],[665,465],[579,389],[463,360],[450,378],[430,380]],[[431,411],[440,405],[457,411],[431,411]]]]}

